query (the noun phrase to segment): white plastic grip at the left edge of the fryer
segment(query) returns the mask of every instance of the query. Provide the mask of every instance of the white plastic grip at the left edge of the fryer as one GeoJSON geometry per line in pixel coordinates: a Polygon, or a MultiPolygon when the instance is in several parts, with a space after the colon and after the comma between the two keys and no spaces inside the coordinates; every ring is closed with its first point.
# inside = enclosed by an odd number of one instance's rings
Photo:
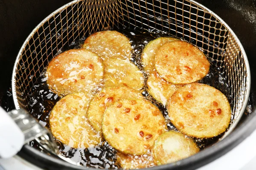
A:
{"type": "Polygon", "coordinates": [[[24,135],[8,113],[0,107],[0,158],[10,158],[24,144],[24,135]]]}

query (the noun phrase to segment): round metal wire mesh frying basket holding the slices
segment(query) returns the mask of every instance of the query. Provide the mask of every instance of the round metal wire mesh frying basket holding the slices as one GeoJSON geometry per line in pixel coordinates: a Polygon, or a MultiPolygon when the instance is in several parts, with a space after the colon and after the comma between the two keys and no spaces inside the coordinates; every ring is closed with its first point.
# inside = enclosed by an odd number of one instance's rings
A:
{"type": "Polygon", "coordinates": [[[59,8],[20,49],[12,77],[16,108],[28,110],[34,83],[61,48],[105,27],[166,31],[201,48],[224,73],[232,98],[230,130],[235,127],[250,90],[246,54],[229,26],[192,0],[75,0],[59,8]]]}

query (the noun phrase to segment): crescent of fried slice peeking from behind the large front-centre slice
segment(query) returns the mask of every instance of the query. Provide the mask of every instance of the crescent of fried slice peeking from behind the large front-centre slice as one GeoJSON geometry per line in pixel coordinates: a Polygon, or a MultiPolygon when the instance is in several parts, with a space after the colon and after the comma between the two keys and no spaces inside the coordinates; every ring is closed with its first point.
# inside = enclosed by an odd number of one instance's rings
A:
{"type": "Polygon", "coordinates": [[[87,117],[93,127],[101,131],[102,119],[105,109],[120,99],[142,99],[143,96],[127,86],[105,87],[90,102],[87,117]]]}

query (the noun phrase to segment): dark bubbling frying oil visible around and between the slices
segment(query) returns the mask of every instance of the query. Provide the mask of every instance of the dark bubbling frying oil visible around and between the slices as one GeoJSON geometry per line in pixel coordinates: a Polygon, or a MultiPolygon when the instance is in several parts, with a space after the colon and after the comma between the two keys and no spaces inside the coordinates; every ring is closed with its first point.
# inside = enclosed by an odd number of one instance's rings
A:
{"type": "MultiPolygon", "coordinates": [[[[145,96],[146,99],[151,101],[160,109],[160,111],[163,113],[163,116],[166,118],[166,124],[168,126],[168,129],[178,131],[176,127],[172,125],[172,123],[169,121],[166,108],[160,102],[157,102],[157,100],[155,100],[148,91],[147,85],[145,83],[147,76],[143,70],[141,63],[141,54],[148,42],[158,37],[171,37],[171,35],[165,32],[154,30],[151,30],[150,32],[140,32],[135,30],[129,31],[128,29],[119,29],[116,31],[125,34],[130,39],[133,49],[130,61],[131,63],[134,63],[134,65],[136,65],[140,69],[140,71],[143,72],[144,86],[141,90],[141,93],[143,94],[143,96],[145,96]]],[[[60,53],[69,49],[80,48],[84,40],[85,37],[79,41],[74,42],[70,46],[61,49],[60,53]]],[[[229,87],[226,83],[224,75],[221,73],[221,69],[218,68],[218,66],[215,65],[214,62],[210,62],[211,66],[209,73],[199,82],[217,88],[222,93],[224,93],[228,99],[230,99],[229,87]]],[[[53,93],[48,88],[44,74],[41,74],[41,77],[38,79],[37,83],[35,83],[29,96],[29,112],[33,116],[35,116],[42,125],[49,128],[49,114],[55,103],[58,102],[59,99],[61,99],[61,96],[53,93]]],[[[205,147],[217,142],[222,135],[223,134],[211,139],[195,138],[194,141],[196,142],[196,144],[198,144],[198,147],[200,149],[204,149],[205,147]]],[[[70,158],[75,162],[79,162],[82,166],[111,169],[120,168],[119,164],[116,162],[116,150],[111,147],[106,141],[101,142],[96,147],[78,149],[71,148],[58,140],[56,140],[56,142],[63,156],[70,158]]],[[[35,141],[30,142],[30,145],[41,150],[41,148],[35,141]]]]}

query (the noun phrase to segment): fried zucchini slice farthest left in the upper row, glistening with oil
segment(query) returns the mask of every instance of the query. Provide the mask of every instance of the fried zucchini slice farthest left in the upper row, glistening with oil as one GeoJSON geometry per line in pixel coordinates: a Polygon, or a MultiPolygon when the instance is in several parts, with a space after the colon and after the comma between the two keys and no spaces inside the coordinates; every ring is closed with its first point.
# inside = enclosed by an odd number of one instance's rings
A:
{"type": "Polygon", "coordinates": [[[49,88],[58,95],[90,92],[103,81],[104,65],[87,49],[68,50],[52,59],[46,75],[49,88]]]}

